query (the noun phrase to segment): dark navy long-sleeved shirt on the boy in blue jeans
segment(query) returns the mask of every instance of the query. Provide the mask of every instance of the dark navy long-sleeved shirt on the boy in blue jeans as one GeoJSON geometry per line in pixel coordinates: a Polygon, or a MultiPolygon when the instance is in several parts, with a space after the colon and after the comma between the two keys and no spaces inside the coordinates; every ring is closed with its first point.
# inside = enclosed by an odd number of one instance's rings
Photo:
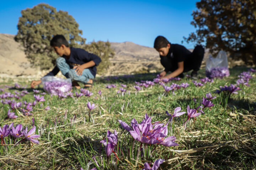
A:
{"type": "MultiPolygon", "coordinates": [[[[87,63],[89,61],[94,61],[95,66],[88,68],[94,77],[95,77],[96,71],[97,71],[96,66],[98,66],[98,64],[101,62],[101,58],[98,57],[97,55],[89,53],[89,52],[85,51],[84,49],[73,48],[73,47],[70,47],[69,59],[67,59],[65,55],[63,55],[62,57],[65,58],[66,62],[69,64],[70,68],[87,63]]],[[[57,66],[55,66],[53,68],[53,70],[51,72],[49,72],[47,75],[56,75],[56,74],[58,74],[58,72],[59,72],[59,68],[57,66]]]]}

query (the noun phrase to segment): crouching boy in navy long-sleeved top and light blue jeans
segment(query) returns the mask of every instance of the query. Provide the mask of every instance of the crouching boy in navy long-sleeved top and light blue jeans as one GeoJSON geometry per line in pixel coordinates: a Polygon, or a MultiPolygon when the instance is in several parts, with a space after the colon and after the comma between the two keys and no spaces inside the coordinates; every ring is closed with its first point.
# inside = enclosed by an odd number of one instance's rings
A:
{"type": "MultiPolygon", "coordinates": [[[[72,85],[80,89],[78,81],[83,83],[85,88],[92,87],[92,79],[96,75],[96,66],[101,62],[101,58],[83,49],[69,47],[68,41],[63,35],[55,35],[50,41],[50,46],[60,56],[56,60],[56,65],[47,75],[56,75],[59,71],[66,78],[72,79],[72,85]]],[[[47,76],[45,75],[45,76],[47,76]]],[[[33,80],[31,88],[39,85],[41,80],[33,80]]]]}

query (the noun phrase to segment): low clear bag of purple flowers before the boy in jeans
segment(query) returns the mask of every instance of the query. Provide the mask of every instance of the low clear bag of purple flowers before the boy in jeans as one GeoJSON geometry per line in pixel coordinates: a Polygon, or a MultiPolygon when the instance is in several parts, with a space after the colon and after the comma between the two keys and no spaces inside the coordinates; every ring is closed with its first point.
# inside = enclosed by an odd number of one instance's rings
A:
{"type": "Polygon", "coordinates": [[[55,76],[41,78],[43,89],[51,95],[59,95],[72,89],[71,79],[62,79],[55,76]]]}

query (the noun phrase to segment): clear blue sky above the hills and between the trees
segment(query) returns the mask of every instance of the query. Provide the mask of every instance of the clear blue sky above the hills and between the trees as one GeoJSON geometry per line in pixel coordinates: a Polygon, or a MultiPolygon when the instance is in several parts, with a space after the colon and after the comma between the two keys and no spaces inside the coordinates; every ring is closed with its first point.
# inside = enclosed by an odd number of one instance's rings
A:
{"type": "MultiPolygon", "coordinates": [[[[153,47],[156,36],[181,44],[194,32],[191,16],[199,0],[13,0],[1,1],[0,33],[17,34],[21,10],[46,3],[67,11],[79,24],[86,43],[93,40],[124,42],[153,47]]],[[[194,44],[183,45],[193,48],[194,44]]]]}

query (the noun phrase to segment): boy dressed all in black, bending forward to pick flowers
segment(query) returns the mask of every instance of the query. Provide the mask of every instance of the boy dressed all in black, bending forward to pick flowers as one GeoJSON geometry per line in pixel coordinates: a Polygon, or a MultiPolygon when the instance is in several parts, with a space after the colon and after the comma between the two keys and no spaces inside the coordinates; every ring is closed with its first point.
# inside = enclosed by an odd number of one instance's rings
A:
{"type": "Polygon", "coordinates": [[[194,48],[193,52],[187,50],[184,46],[178,44],[171,44],[165,37],[158,36],[154,42],[154,48],[160,54],[160,62],[165,70],[160,73],[160,78],[183,78],[183,72],[193,70],[191,77],[197,79],[197,72],[200,69],[204,49],[201,45],[194,48]],[[166,75],[167,72],[172,72],[166,75]]]}

